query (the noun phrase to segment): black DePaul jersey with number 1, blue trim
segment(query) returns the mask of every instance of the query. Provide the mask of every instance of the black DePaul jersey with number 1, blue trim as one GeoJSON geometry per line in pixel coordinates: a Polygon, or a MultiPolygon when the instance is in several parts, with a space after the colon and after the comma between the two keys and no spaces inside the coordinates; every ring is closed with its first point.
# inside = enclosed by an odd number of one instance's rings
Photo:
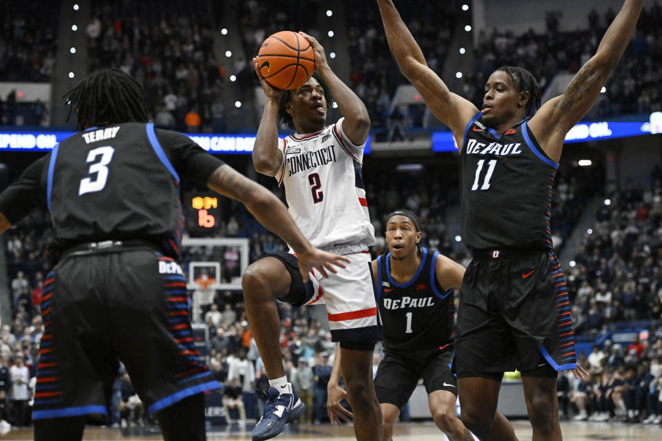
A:
{"type": "Polygon", "coordinates": [[[434,268],[439,252],[421,250],[421,265],[406,283],[396,283],[391,278],[390,253],[377,257],[377,305],[384,347],[391,351],[453,347],[453,289],[444,291],[437,281],[434,268]]]}

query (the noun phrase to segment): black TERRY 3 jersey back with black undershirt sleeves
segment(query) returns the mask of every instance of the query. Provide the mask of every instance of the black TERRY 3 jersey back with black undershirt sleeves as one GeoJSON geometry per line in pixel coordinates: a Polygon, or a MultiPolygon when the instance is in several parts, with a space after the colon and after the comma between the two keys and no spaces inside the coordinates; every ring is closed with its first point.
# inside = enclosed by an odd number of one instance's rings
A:
{"type": "Polygon", "coordinates": [[[139,239],[176,257],[180,174],[205,185],[221,164],[188,136],[153,124],[93,127],[30,165],[0,195],[0,212],[15,223],[45,201],[55,249],[139,239]]]}

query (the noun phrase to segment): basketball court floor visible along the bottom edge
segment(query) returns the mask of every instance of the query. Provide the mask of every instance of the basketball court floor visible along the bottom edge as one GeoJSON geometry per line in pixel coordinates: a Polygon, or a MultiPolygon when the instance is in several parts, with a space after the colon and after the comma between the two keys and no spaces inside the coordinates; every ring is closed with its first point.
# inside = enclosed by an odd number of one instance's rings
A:
{"type": "MultiPolygon", "coordinates": [[[[532,431],[528,420],[514,420],[515,433],[519,440],[531,440],[532,431]]],[[[250,440],[252,425],[240,427],[214,426],[208,428],[209,441],[250,440]]],[[[620,422],[561,422],[565,441],[661,441],[662,427],[659,425],[625,424],[620,422]]],[[[84,440],[90,441],[158,441],[162,440],[157,429],[132,427],[127,429],[88,428],[84,440]]],[[[298,424],[286,427],[274,440],[354,440],[352,427],[332,427],[330,424],[298,424]]],[[[432,422],[406,422],[395,427],[397,441],[445,441],[446,438],[432,422]]],[[[2,441],[32,440],[31,430],[11,431],[0,437],[2,441]]]]}

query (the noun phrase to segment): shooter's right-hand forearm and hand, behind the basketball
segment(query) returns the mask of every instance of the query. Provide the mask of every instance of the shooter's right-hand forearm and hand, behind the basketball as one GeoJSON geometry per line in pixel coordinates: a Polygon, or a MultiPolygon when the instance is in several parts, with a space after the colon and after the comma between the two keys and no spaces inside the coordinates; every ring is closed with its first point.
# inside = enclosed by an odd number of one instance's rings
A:
{"type": "Polygon", "coordinates": [[[312,49],[315,51],[315,70],[321,74],[328,84],[341,115],[345,117],[343,132],[355,145],[365,143],[370,132],[370,116],[368,116],[368,109],[365,108],[365,104],[333,73],[326,61],[324,48],[317,39],[303,32],[299,32],[299,34],[310,41],[312,49]]]}

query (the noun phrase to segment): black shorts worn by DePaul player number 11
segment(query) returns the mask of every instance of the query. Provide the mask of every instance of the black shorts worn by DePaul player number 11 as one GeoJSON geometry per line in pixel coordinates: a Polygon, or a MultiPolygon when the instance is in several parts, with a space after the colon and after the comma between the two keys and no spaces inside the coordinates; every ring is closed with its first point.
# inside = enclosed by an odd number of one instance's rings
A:
{"type": "Polygon", "coordinates": [[[552,250],[474,253],[459,297],[459,378],[501,378],[499,373],[514,369],[524,376],[555,376],[576,367],[568,289],[552,250]]]}

